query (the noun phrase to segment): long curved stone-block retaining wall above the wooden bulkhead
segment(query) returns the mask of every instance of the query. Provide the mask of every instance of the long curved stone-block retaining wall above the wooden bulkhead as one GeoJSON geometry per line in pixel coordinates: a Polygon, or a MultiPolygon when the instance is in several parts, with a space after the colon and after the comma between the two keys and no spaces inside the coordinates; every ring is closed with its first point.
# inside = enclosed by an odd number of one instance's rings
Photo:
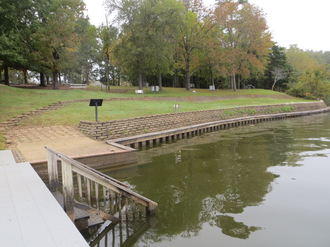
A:
{"type": "Polygon", "coordinates": [[[291,103],[168,113],[103,122],[81,121],[78,128],[93,140],[111,140],[183,126],[257,115],[326,108],[324,102],[291,103]]]}

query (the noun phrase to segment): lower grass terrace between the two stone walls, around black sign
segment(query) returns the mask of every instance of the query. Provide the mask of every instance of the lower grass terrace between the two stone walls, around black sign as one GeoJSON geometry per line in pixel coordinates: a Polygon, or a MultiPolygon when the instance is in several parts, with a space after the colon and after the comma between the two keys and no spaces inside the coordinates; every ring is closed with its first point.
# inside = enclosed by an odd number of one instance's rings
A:
{"type": "MultiPolygon", "coordinates": [[[[212,102],[146,102],[146,101],[107,101],[98,107],[98,121],[133,118],[174,112],[174,105],[180,105],[180,112],[241,107],[249,105],[271,105],[301,102],[298,99],[282,100],[270,98],[238,98],[212,102]]],[[[95,107],[88,102],[70,103],[57,110],[38,113],[18,123],[20,126],[77,126],[81,120],[95,121],[95,107]]]]}

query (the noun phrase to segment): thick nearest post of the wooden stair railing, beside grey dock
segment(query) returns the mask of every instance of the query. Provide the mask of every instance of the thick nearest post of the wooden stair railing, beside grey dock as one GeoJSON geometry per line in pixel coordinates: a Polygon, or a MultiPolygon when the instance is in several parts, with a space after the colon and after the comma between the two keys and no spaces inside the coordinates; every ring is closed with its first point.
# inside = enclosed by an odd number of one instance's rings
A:
{"type": "Polygon", "coordinates": [[[69,162],[65,160],[61,161],[64,211],[72,220],[72,222],[75,223],[72,168],[69,162]]]}

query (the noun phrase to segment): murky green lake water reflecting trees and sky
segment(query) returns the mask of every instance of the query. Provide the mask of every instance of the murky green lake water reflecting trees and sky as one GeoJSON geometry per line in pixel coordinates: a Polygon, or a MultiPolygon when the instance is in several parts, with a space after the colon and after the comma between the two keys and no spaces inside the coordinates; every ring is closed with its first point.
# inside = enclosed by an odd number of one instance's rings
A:
{"type": "Polygon", "coordinates": [[[91,246],[328,247],[329,146],[325,113],[144,148],[137,164],[102,172],[157,202],[156,219],[148,226],[145,219],[105,223],[100,241],[87,240],[91,246]]]}

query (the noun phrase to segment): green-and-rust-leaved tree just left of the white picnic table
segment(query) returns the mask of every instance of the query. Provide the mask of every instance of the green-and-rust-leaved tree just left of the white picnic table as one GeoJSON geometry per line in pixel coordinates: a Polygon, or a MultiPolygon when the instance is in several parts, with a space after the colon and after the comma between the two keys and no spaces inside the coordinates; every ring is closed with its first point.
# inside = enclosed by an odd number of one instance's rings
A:
{"type": "Polygon", "coordinates": [[[75,26],[83,17],[83,10],[81,0],[51,0],[40,18],[38,30],[32,35],[35,60],[53,73],[53,89],[59,88],[60,57],[66,57],[68,63],[69,58],[74,57],[78,44],[75,26]]]}

